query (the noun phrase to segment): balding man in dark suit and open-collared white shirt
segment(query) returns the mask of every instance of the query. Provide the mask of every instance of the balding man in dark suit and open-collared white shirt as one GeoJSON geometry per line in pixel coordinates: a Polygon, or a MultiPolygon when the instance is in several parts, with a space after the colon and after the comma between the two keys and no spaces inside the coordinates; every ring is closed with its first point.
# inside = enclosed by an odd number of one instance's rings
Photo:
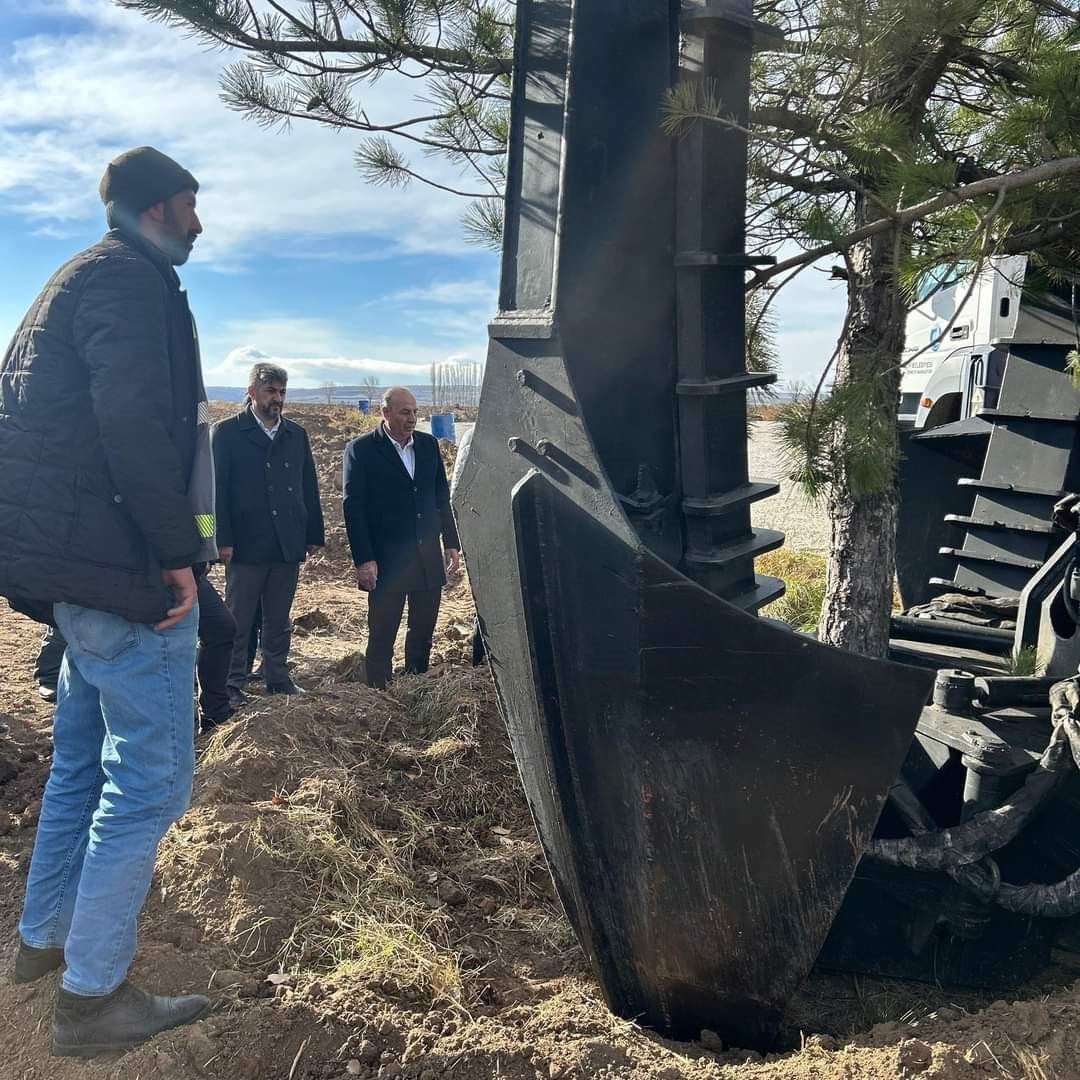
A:
{"type": "Polygon", "coordinates": [[[416,399],[382,395],[382,423],[346,447],[345,524],[367,597],[367,683],[390,680],[394,638],[408,603],[405,671],[428,670],[447,572],[461,556],[438,441],[416,430],[416,399]]]}

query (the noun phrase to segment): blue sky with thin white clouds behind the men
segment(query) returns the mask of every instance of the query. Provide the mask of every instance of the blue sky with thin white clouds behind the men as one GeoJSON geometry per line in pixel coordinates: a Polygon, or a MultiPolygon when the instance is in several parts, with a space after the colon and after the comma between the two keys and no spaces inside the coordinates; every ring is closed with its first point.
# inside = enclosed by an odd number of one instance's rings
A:
{"type": "MultiPolygon", "coordinates": [[[[432,362],[483,360],[498,259],[464,242],[461,201],[366,185],[348,133],[268,133],[227,109],[230,58],[109,0],[0,0],[0,338],[100,237],[105,164],[151,144],[201,184],[205,232],[181,275],[208,384],[242,384],[255,352],[295,386],[422,383],[432,362]]],[[[417,92],[384,79],[365,106],[401,114],[417,92]]],[[[806,381],[842,296],[804,281],[775,310],[782,375],[806,381]]]]}

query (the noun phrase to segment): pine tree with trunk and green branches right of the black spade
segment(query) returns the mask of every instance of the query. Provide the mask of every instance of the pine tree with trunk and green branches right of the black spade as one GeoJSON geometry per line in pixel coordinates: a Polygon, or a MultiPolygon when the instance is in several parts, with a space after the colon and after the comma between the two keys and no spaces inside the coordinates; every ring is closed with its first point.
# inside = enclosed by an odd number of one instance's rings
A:
{"type": "MultiPolygon", "coordinates": [[[[942,265],[1031,252],[1072,273],[1080,22],[1054,0],[774,0],[760,14],[786,43],[755,62],[752,233],[804,251],[750,286],[775,295],[823,258],[847,280],[837,350],[784,434],[831,521],[820,636],[883,656],[906,312],[942,265]]],[[[678,134],[730,111],[707,87],[677,87],[665,123],[678,134]]]]}

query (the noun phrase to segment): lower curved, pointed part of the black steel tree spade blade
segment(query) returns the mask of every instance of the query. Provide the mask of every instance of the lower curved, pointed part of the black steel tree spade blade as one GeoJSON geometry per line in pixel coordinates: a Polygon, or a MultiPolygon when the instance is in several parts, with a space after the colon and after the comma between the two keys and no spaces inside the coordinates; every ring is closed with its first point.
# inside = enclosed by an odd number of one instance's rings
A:
{"type": "Polygon", "coordinates": [[[557,349],[492,342],[455,499],[514,755],[611,1008],[764,1045],[930,678],[747,615],[645,548],[557,349]]]}

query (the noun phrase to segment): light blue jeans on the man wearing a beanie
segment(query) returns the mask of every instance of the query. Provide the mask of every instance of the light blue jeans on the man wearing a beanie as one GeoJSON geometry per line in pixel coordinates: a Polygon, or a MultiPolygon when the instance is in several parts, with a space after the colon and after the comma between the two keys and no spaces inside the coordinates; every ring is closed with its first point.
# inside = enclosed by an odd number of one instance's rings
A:
{"type": "Polygon", "coordinates": [[[164,633],[73,604],[54,613],[68,647],[18,929],[64,949],[64,989],[100,997],[127,975],[158,843],[191,799],[199,606],[164,633]]]}

